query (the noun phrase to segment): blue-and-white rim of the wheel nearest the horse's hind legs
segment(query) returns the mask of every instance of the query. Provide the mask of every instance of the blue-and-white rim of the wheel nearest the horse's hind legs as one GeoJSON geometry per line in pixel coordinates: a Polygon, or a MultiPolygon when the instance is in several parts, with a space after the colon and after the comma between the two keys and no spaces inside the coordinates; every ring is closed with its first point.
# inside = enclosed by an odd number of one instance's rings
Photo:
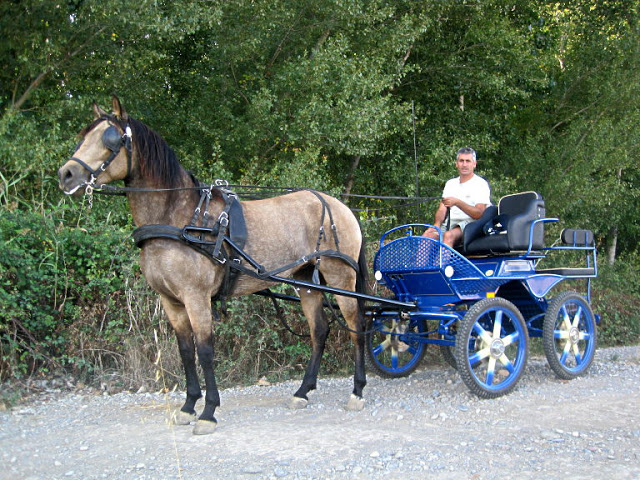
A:
{"type": "Polygon", "coordinates": [[[416,325],[393,318],[385,320],[381,328],[371,335],[369,345],[371,357],[380,368],[389,373],[402,373],[420,362],[425,344],[400,337],[410,331],[418,332],[416,325]]]}

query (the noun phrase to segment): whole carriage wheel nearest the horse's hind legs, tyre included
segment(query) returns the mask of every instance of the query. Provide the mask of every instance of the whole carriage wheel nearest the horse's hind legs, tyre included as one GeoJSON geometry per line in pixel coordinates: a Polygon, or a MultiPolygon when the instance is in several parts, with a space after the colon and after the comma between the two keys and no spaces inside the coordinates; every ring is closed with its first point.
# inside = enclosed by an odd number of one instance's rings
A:
{"type": "Polygon", "coordinates": [[[398,316],[381,319],[378,328],[366,334],[367,366],[381,377],[406,377],[418,368],[427,351],[426,343],[417,337],[411,338],[412,333],[422,331],[424,322],[398,316]]]}

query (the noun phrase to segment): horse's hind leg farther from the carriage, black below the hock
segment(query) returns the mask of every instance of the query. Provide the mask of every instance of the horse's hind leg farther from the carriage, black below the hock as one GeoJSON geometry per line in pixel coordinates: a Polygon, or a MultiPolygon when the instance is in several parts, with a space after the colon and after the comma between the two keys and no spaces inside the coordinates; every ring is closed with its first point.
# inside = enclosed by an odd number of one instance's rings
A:
{"type": "Polygon", "coordinates": [[[307,394],[316,389],[320,361],[322,360],[327,336],[329,335],[329,323],[322,310],[322,294],[316,291],[301,290],[300,303],[302,304],[302,311],[309,322],[312,350],[302,385],[293,394],[293,400],[290,404],[290,407],[295,409],[305,408],[309,401],[307,394]]]}

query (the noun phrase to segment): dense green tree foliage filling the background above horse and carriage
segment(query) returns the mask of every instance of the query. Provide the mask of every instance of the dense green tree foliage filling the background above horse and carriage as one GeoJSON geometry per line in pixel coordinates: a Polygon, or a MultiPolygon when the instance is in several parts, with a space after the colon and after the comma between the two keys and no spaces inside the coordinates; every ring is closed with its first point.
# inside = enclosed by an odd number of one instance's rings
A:
{"type": "MultiPolygon", "coordinates": [[[[69,315],[90,309],[69,296],[79,291],[71,273],[97,286],[105,262],[127,263],[103,253],[130,230],[126,202],[100,199],[89,212],[86,201],[63,198],[56,178],[91,103],[108,105],[114,93],[204,181],[437,197],[455,175],[455,151],[472,146],[494,201],[537,190],[551,216],[593,229],[610,261],[625,259],[620,277],[605,272],[612,290],[598,301],[637,293],[627,264],[640,254],[639,8],[638,0],[0,2],[3,361],[29,354],[28,335],[52,354],[73,338],[69,315]],[[84,265],[73,249],[89,251],[92,241],[96,258],[84,265]]],[[[361,218],[370,237],[428,221],[436,206],[345,200],[369,209],[361,218]]]]}

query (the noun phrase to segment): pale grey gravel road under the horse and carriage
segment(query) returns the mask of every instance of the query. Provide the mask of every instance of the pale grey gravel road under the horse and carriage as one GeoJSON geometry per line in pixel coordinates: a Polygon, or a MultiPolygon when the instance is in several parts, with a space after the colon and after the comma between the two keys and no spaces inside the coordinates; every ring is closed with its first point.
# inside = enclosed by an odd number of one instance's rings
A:
{"type": "Polygon", "coordinates": [[[342,408],[351,379],[288,410],[297,386],[223,390],[208,436],[167,421],[183,393],[49,388],[0,412],[0,479],[640,479],[640,347],[600,349],[573,381],[532,358],[494,400],[442,365],[369,375],[362,412],[342,408]]]}

